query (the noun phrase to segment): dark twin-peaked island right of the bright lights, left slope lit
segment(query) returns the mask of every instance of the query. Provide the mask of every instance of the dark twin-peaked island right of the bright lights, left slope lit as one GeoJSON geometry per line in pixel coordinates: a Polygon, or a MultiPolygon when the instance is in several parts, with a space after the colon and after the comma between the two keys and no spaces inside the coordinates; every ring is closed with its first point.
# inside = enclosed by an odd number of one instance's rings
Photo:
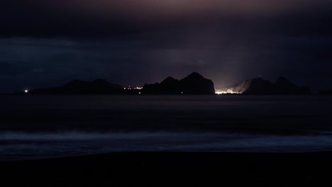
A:
{"type": "Polygon", "coordinates": [[[262,78],[248,79],[236,86],[227,88],[227,92],[259,95],[301,95],[310,94],[309,87],[299,87],[284,77],[279,77],[275,83],[262,78]]]}

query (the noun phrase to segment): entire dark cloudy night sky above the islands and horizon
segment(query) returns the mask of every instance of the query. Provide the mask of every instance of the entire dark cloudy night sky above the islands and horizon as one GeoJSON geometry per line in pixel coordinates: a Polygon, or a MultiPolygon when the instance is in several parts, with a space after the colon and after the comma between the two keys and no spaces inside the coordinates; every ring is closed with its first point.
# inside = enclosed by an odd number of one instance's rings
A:
{"type": "Polygon", "coordinates": [[[1,0],[0,93],[199,72],[332,88],[331,0],[1,0]]]}

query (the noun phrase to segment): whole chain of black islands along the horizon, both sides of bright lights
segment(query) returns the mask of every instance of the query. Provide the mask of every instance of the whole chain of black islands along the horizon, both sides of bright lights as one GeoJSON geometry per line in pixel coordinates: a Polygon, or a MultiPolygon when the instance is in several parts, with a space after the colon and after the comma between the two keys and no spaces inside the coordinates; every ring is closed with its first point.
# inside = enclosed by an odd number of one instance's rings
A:
{"type": "MultiPolygon", "coordinates": [[[[331,92],[332,89],[320,91],[319,94],[331,94],[331,92]]],[[[284,77],[279,77],[275,82],[261,77],[247,79],[216,91],[211,79],[193,72],[183,79],[167,77],[160,83],[145,84],[143,87],[122,86],[105,79],[94,81],[74,79],[60,87],[33,89],[21,94],[308,95],[311,91],[308,86],[297,86],[284,77]]]]}

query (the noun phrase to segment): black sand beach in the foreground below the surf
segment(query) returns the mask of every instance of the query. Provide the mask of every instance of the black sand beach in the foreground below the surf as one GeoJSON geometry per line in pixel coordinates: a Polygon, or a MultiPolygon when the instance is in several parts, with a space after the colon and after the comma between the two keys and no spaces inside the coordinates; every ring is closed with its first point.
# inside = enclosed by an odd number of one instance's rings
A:
{"type": "Polygon", "coordinates": [[[127,152],[0,162],[0,186],[331,186],[332,152],[127,152]]]}

